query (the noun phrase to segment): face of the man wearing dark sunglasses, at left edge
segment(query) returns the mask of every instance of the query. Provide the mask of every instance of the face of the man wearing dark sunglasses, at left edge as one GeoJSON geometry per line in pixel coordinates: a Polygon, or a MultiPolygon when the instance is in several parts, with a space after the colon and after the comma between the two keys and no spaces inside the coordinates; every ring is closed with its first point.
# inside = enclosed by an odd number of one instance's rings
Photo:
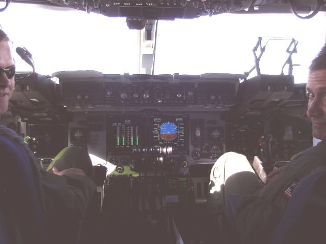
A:
{"type": "MultiPolygon", "coordinates": [[[[8,68],[14,64],[11,55],[9,43],[7,41],[0,42],[0,67],[8,68]]],[[[0,114],[8,110],[9,99],[14,90],[15,79],[8,79],[5,72],[0,75],[0,114]]]]}

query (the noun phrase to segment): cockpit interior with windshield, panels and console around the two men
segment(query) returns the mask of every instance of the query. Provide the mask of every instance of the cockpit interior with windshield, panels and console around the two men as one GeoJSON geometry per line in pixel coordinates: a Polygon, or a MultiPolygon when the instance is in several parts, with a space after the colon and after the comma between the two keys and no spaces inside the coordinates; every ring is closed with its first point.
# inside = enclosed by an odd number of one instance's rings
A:
{"type": "Polygon", "coordinates": [[[316,143],[305,82],[323,0],[0,4],[17,71],[0,124],[44,168],[88,151],[98,202],[80,243],[219,243],[214,162],[235,151],[271,171],[316,143]]]}

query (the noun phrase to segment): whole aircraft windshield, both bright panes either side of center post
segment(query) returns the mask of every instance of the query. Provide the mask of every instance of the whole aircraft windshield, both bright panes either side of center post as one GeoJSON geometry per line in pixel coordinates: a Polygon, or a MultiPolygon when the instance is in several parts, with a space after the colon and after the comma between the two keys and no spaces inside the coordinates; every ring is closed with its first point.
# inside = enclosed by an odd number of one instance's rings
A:
{"type": "MultiPolygon", "coordinates": [[[[33,54],[38,73],[143,73],[140,46],[144,31],[128,29],[124,18],[16,3],[11,3],[0,17],[13,48],[26,47],[33,54]]],[[[320,27],[324,22],[324,13],[309,20],[293,14],[221,14],[159,21],[154,74],[243,74],[254,66],[252,49],[258,37],[268,36],[298,41],[292,60],[300,67],[293,68],[293,75],[296,83],[304,83],[312,58],[325,42],[326,30],[320,27]]],[[[262,74],[281,73],[288,45],[275,40],[266,46],[262,74]]],[[[17,54],[15,60],[18,71],[31,70],[17,54]]]]}

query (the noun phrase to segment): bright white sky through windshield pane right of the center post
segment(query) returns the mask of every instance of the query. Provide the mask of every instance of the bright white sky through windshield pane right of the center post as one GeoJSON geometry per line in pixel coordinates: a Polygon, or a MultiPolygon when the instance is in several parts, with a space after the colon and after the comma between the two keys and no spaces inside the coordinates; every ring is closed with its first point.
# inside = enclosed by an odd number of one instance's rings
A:
{"type": "MultiPolygon", "coordinates": [[[[243,74],[254,66],[252,49],[258,37],[284,37],[299,42],[292,60],[293,64],[301,66],[294,67],[293,74],[296,83],[304,83],[311,60],[325,42],[325,22],[323,13],[308,20],[294,14],[222,14],[174,22],[160,21],[155,73],[243,74]]],[[[268,39],[264,38],[262,45],[268,39]]],[[[289,44],[289,41],[270,41],[267,44],[260,63],[262,74],[281,74],[289,44]]],[[[284,73],[287,74],[287,69],[284,73]]]]}

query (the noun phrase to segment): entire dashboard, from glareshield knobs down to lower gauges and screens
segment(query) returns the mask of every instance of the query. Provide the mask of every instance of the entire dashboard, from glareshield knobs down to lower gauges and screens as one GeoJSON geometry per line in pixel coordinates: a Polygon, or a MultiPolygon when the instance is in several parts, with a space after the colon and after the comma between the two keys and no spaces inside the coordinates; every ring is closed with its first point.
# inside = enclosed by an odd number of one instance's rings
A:
{"type": "Polygon", "coordinates": [[[213,164],[226,151],[253,160],[267,133],[274,137],[275,161],[287,161],[296,147],[311,145],[306,133],[311,125],[298,116],[307,104],[305,87],[294,85],[292,76],[240,82],[243,76],[235,74],[61,72],[58,78],[58,84],[39,75],[24,79],[11,99],[42,159],[73,145],[86,148],[94,163],[113,165],[113,174],[186,174],[193,165],[213,164]],[[269,89],[274,83],[288,88],[269,89]],[[252,102],[255,94],[259,104],[252,102]],[[277,103],[270,103],[275,98],[277,103]]]}

